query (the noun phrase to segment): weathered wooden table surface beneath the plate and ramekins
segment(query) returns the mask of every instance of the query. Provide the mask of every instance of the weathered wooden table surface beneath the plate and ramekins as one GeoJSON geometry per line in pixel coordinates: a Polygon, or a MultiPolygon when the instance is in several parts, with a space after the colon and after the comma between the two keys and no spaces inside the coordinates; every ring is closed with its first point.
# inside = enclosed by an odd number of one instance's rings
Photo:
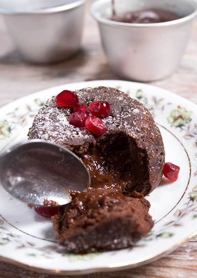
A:
{"type": "MultiPolygon", "coordinates": [[[[119,79],[109,68],[101,48],[98,28],[88,12],[81,51],[68,61],[53,65],[31,65],[24,63],[14,49],[0,17],[0,106],[15,98],[51,86],[85,81],[88,79],[119,79]]],[[[189,45],[176,72],[160,81],[150,82],[178,95],[197,102],[197,20],[194,23],[189,45]]],[[[121,272],[96,273],[84,278],[108,277],[197,277],[197,237],[179,246],[172,254],[138,268],[121,272]]],[[[52,278],[45,275],[0,262],[0,278],[52,278]]],[[[66,276],[68,277],[68,276],[66,276]]],[[[81,277],[81,276],[80,276],[81,277]]]]}

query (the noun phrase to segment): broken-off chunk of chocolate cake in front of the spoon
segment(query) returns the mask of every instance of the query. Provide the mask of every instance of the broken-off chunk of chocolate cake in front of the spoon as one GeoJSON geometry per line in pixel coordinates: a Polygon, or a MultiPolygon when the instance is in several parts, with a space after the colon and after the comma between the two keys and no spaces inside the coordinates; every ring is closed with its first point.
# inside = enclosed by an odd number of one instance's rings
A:
{"type": "Polygon", "coordinates": [[[52,217],[57,238],[74,253],[117,250],[133,246],[153,227],[144,199],[110,190],[76,193],[72,202],[52,217]]]}

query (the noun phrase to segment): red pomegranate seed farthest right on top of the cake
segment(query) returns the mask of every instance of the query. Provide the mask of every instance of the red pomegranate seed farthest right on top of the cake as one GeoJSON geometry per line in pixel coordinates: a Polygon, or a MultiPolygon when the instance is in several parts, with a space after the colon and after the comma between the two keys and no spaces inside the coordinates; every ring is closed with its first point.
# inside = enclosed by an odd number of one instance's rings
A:
{"type": "Polygon", "coordinates": [[[105,118],[110,115],[110,103],[107,101],[94,101],[90,103],[89,109],[96,117],[105,118]]]}

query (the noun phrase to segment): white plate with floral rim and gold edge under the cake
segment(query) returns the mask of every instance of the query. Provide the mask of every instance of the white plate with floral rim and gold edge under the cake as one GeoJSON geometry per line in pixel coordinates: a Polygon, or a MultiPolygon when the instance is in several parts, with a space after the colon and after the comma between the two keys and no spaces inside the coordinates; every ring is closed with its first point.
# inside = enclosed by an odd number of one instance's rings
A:
{"type": "Polygon", "coordinates": [[[27,138],[40,106],[61,90],[111,86],[143,102],[160,128],[166,162],[180,166],[179,178],[165,178],[147,199],[155,225],[132,249],[87,255],[66,254],[55,242],[50,220],[27,204],[10,199],[0,188],[0,259],[43,272],[84,274],[132,268],[169,253],[197,234],[197,105],[166,90],[120,80],[56,86],[27,95],[0,108],[0,147],[27,138]]]}

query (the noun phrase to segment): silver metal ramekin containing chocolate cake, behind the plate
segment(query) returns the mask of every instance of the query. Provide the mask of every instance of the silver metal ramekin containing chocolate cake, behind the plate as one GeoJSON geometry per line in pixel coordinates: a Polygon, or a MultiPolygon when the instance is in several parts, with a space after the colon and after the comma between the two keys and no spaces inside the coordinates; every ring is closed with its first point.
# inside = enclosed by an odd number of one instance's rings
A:
{"type": "Polygon", "coordinates": [[[179,15],[164,23],[132,24],[111,21],[111,0],[91,6],[98,21],[103,48],[112,70],[125,79],[152,81],[176,70],[197,14],[196,0],[115,0],[117,14],[154,8],[179,15]]]}

